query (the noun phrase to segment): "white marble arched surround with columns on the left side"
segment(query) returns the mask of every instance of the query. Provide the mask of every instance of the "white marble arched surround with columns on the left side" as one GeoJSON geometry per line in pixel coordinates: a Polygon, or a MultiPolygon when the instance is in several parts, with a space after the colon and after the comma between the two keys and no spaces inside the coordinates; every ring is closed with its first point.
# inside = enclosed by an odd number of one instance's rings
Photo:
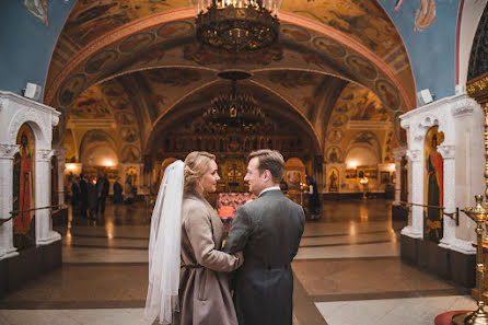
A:
{"type": "MultiPolygon", "coordinates": [[[[53,127],[59,121],[56,109],[10,92],[0,91],[0,219],[9,219],[12,211],[12,160],[21,126],[31,126],[35,137],[35,204],[36,208],[50,206],[50,158],[53,127]]],[[[36,212],[36,244],[50,244],[61,239],[53,231],[49,210],[36,212]]],[[[12,220],[0,225],[0,259],[16,255],[13,247],[12,220]]]]}

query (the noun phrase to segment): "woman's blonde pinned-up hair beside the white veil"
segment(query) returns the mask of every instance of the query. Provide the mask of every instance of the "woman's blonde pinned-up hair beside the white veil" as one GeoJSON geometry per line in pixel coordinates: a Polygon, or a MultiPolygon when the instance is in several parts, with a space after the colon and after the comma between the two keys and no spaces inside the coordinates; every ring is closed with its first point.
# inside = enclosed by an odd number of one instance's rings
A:
{"type": "Polygon", "coordinates": [[[205,173],[207,173],[208,166],[212,160],[216,160],[216,156],[206,151],[194,151],[188,153],[185,158],[185,193],[194,190],[197,183],[201,186],[198,181],[205,173]]]}

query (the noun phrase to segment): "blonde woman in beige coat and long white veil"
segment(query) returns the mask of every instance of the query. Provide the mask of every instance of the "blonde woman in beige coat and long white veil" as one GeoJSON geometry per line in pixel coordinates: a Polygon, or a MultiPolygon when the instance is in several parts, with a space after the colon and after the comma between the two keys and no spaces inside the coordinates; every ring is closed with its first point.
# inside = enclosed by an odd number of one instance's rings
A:
{"type": "Polygon", "coordinates": [[[220,179],[216,156],[194,151],[167,166],[151,220],[144,313],[161,324],[237,325],[228,274],[242,253],[221,252],[223,225],[205,199],[220,179]]]}

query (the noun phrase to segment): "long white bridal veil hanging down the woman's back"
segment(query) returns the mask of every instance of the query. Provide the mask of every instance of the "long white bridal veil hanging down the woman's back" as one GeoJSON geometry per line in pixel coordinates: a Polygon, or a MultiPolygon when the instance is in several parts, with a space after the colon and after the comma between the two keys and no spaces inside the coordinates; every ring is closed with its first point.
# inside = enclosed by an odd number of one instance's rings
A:
{"type": "Polygon", "coordinates": [[[184,163],[166,167],[151,218],[149,288],[144,314],[171,324],[178,306],[184,163]]]}

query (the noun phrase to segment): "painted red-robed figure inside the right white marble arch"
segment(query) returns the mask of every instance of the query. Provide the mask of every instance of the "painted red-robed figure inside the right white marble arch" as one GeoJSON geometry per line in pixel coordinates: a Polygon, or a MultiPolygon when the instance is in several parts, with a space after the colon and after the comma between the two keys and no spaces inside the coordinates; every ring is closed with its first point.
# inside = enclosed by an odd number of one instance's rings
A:
{"type": "MultiPolygon", "coordinates": [[[[443,177],[444,162],[442,155],[437,151],[438,137],[434,134],[430,143],[430,153],[426,161],[428,174],[427,205],[440,207],[443,205],[443,177]]],[[[435,208],[427,208],[426,236],[439,242],[442,239],[442,211],[435,208]]]]}

